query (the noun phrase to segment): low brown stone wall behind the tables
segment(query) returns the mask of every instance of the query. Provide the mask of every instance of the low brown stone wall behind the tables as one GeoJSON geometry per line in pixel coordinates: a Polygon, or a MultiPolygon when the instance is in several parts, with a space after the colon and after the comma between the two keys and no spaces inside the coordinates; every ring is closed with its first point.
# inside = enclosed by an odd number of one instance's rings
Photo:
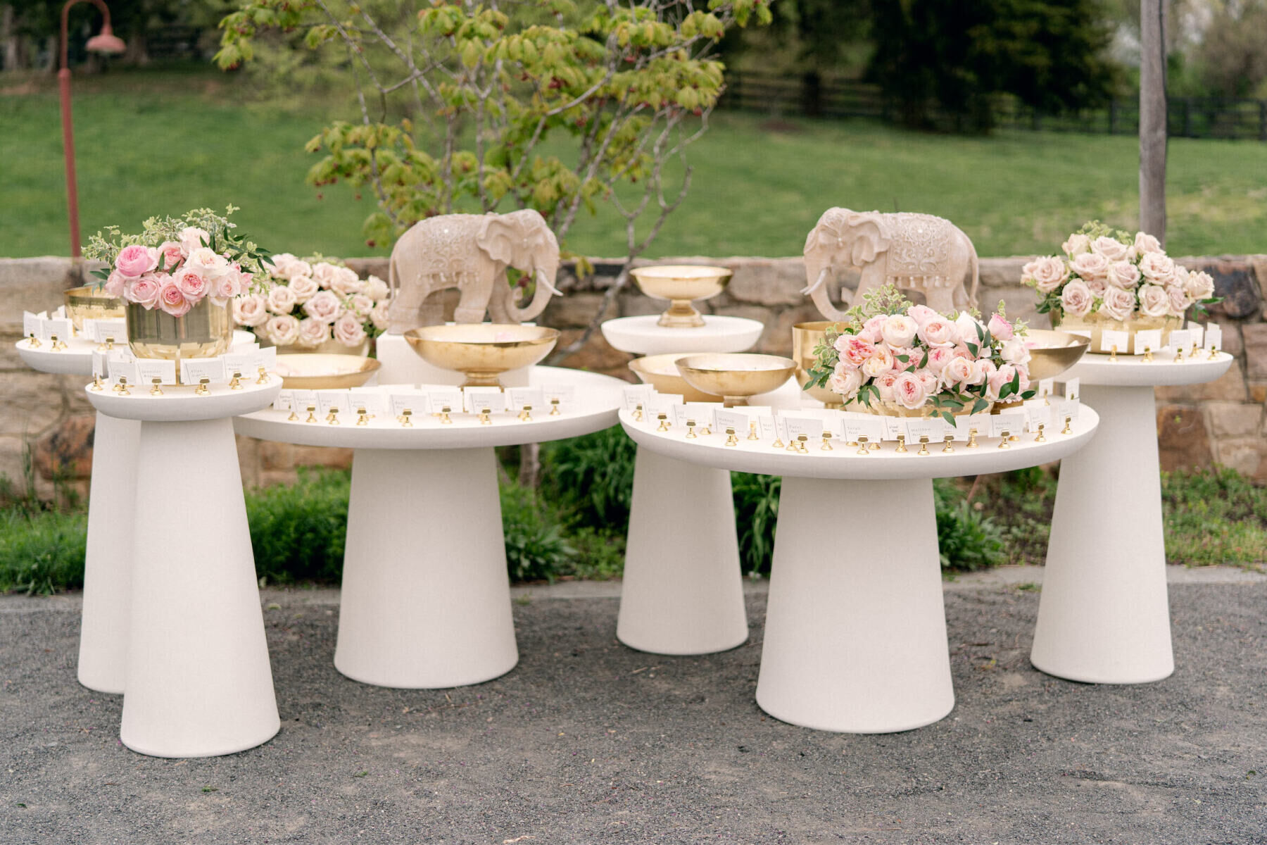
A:
{"type": "MultiPolygon", "coordinates": [[[[982,308],[1002,300],[1011,317],[1047,326],[1034,314],[1033,291],[1022,288],[1020,267],[1028,258],[982,258],[982,308]]],[[[663,264],[670,260],[660,260],[663,264]]],[[[715,314],[749,317],[765,323],[758,351],[788,355],[792,326],[820,319],[813,304],[801,295],[805,271],[801,258],[703,258],[672,260],[721,264],[735,271],[727,290],[701,303],[715,314]]],[[[1214,319],[1223,324],[1224,348],[1237,356],[1228,374],[1206,385],[1161,388],[1157,390],[1157,424],[1162,466],[1180,469],[1224,464],[1267,483],[1267,438],[1263,437],[1263,405],[1267,402],[1267,322],[1263,290],[1267,286],[1267,256],[1220,256],[1181,258],[1190,269],[1205,269],[1215,277],[1216,293],[1224,302],[1215,307],[1214,319]]],[[[386,277],[385,258],[348,260],[360,272],[386,277]]],[[[560,279],[566,291],[555,299],[541,323],[563,331],[560,347],[578,338],[602,304],[620,267],[617,261],[595,261],[595,274],[585,279],[568,275],[560,279]]],[[[68,258],[0,260],[0,385],[4,410],[0,413],[0,474],[22,484],[23,452],[30,450],[35,483],[41,495],[52,494],[52,479],[61,474],[79,479],[84,486],[91,464],[92,412],[80,391],[81,380],[32,372],[18,357],[13,345],[22,336],[22,312],[43,310],[61,302],[61,291],[84,284],[82,271],[68,258]]],[[[854,284],[853,280],[844,280],[854,284]]],[[[452,293],[452,291],[450,291],[452,293]]],[[[455,298],[450,298],[451,313],[455,298]]],[[[621,291],[606,318],[654,314],[664,304],[647,299],[636,288],[621,291]]],[[[563,361],[565,366],[585,367],[631,378],[626,364],[632,356],[613,350],[595,333],[578,352],[563,361]]],[[[347,450],[322,450],[285,443],[239,438],[242,476],[251,484],[284,481],[296,466],[333,464],[346,466],[347,450]]]]}

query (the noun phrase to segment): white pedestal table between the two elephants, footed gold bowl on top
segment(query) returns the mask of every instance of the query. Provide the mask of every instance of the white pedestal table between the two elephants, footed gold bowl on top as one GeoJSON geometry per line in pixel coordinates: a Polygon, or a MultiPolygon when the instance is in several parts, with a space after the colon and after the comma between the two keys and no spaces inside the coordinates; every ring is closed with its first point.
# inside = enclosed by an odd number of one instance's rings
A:
{"type": "MultiPolygon", "coordinates": [[[[698,328],[666,328],[658,319],[622,317],[601,328],[608,343],[634,355],[742,352],[765,328],[713,314],[698,328]]],[[[725,651],[748,640],[727,470],[637,451],[616,637],[668,655],[725,651]]]]}

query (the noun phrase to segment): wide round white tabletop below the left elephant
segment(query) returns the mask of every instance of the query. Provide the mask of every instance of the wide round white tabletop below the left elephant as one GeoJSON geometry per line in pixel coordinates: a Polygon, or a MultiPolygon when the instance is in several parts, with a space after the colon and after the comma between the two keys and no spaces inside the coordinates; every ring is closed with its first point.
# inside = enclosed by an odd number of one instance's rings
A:
{"type": "MultiPolygon", "coordinates": [[[[578,409],[573,413],[550,416],[549,408],[533,409],[532,419],[521,422],[513,412],[493,414],[492,424],[480,424],[475,414],[451,414],[452,422],[441,423],[428,414],[413,418],[413,426],[403,427],[393,417],[370,419],[357,426],[352,419],[341,419],[331,426],[318,417],[315,423],[288,422],[290,412],[271,408],[238,417],[233,428],[239,435],[272,440],[300,446],[337,446],[343,448],[483,448],[490,446],[517,446],[564,440],[589,435],[616,424],[616,410],[621,404],[621,388],[627,381],[612,376],[564,367],[535,366],[528,371],[528,385],[569,384],[576,388],[578,409]]],[[[412,386],[412,385],[411,385],[412,386]]],[[[436,385],[440,386],[440,385],[436,385]]],[[[390,385],[372,388],[390,393],[390,385]]]]}

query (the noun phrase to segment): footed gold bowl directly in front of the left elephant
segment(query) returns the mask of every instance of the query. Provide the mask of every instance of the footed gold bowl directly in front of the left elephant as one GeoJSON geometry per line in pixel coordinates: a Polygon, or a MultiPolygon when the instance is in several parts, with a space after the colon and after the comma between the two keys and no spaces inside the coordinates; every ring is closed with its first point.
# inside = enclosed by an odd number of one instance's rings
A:
{"type": "Polygon", "coordinates": [[[404,333],[422,360],[466,376],[464,388],[500,388],[507,370],[532,366],[559,342],[559,329],[517,323],[423,326],[404,333]]]}

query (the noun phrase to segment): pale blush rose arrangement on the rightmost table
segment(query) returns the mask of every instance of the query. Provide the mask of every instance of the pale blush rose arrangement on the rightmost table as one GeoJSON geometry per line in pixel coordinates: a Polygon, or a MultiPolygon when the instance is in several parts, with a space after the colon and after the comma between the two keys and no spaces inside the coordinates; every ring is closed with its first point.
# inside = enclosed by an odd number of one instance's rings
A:
{"type": "Polygon", "coordinates": [[[1100,343],[1106,328],[1128,332],[1131,345],[1136,331],[1159,328],[1164,343],[1188,308],[1201,314],[1220,302],[1210,274],[1176,264],[1145,232],[1130,234],[1092,220],[1060,250],[1063,256],[1026,264],[1021,283],[1038,291],[1038,310],[1050,314],[1053,327],[1090,329],[1092,351],[1109,351],[1100,343]]]}

